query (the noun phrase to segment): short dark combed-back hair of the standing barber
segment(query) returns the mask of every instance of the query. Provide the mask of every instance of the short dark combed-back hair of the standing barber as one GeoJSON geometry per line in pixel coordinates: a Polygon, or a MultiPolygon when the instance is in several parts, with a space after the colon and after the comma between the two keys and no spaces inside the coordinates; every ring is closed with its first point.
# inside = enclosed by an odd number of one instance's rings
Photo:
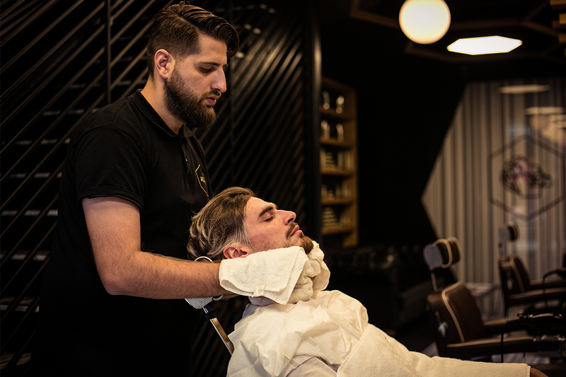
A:
{"type": "Polygon", "coordinates": [[[200,52],[199,34],[208,35],[226,43],[228,58],[238,51],[238,32],[224,18],[205,11],[188,1],[168,6],[151,18],[147,41],[147,68],[153,75],[154,56],[164,49],[176,59],[200,52]]]}

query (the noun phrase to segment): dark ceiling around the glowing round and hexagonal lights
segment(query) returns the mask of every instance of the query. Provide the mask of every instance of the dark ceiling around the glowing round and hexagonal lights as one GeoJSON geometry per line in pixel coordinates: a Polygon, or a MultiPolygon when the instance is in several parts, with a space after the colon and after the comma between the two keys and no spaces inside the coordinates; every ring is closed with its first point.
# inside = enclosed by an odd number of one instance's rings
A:
{"type": "MultiPolygon", "coordinates": [[[[487,62],[530,62],[532,65],[536,61],[545,75],[560,74],[566,68],[566,44],[560,43],[559,24],[560,11],[566,13],[566,8],[553,7],[550,0],[445,0],[451,11],[451,25],[441,40],[430,45],[411,42],[400,30],[398,15],[404,1],[322,0],[320,21],[323,30],[324,25],[348,23],[352,31],[359,30],[355,37],[366,42],[387,38],[388,48],[380,44],[376,54],[402,51],[439,62],[480,66],[487,62]],[[507,54],[470,56],[446,50],[458,38],[486,35],[512,37],[522,40],[523,44],[507,54]]],[[[565,1],[553,0],[555,2],[565,1]]],[[[566,33],[566,28],[562,33],[566,33]]]]}

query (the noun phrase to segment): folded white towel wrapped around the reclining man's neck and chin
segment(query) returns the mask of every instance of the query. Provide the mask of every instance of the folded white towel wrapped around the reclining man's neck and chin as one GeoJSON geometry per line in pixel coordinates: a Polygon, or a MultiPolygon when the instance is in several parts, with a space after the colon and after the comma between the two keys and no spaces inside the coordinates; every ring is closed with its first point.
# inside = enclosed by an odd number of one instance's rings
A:
{"type": "Polygon", "coordinates": [[[236,294],[250,296],[250,301],[258,306],[308,300],[328,285],[330,271],[323,258],[318,243],[313,242],[308,257],[303,248],[291,246],[223,260],[220,285],[236,294]]]}

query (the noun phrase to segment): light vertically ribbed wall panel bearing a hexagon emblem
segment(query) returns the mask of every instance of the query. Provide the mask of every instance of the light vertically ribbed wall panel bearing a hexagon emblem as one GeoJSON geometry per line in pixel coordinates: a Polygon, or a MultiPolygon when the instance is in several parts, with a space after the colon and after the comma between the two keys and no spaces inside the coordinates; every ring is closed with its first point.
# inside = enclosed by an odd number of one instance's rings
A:
{"type": "Polygon", "coordinates": [[[458,279],[499,285],[497,229],[507,221],[519,226],[520,237],[502,252],[517,253],[531,278],[562,265],[564,88],[565,79],[553,78],[469,83],[463,92],[422,195],[437,236],[461,242],[464,257],[454,267],[458,279]],[[499,91],[521,83],[546,90],[499,91]]]}

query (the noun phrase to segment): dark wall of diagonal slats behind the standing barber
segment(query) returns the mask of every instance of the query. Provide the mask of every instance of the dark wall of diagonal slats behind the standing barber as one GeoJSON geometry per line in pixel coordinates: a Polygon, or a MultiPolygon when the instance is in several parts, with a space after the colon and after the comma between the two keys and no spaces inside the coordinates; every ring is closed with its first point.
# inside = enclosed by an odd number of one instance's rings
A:
{"type": "MultiPolygon", "coordinates": [[[[0,376],[27,369],[69,134],[88,112],[144,86],[147,24],[171,3],[0,0],[0,376]]],[[[192,1],[231,21],[241,36],[229,91],[216,106],[219,121],[199,136],[216,192],[250,187],[294,209],[308,228],[316,223],[305,204],[314,124],[306,80],[311,25],[293,3],[192,1]]],[[[245,303],[216,308],[226,330],[245,303]]],[[[229,355],[208,323],[195,346],[197,376],[225,375],[229,355]]]]}

